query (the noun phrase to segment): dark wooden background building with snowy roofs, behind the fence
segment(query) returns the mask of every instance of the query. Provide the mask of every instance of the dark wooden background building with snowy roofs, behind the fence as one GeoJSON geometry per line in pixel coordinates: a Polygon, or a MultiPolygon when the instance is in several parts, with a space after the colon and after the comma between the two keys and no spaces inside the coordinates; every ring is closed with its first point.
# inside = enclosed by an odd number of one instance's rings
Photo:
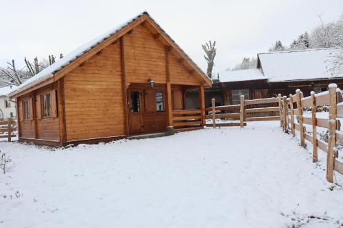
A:
{"type": "Polygon", "coordinates": [[[257,68],[223,71],[213,79],[212,88],[206,89],[206,106],[215,98],[217,105],[239,103],[239,97],[260,99],[289,96],[300,89],[304,96],[326,91],[331,83],[343,86],[343,75],[332,75],[329,70],[332,53],[337,49],[305,49],[259,53],[257,68]]]}

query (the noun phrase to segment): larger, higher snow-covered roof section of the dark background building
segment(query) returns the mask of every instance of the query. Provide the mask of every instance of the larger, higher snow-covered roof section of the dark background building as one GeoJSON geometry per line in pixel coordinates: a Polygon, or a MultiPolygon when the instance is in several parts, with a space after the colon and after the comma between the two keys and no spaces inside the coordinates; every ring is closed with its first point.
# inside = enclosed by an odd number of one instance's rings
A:
{"type": "Polygon", "coordinates": [[[328,65],[335,49],[306,49],[259,53],[265,77],[270,82],[343,77],[331,75],[328,65]]]}

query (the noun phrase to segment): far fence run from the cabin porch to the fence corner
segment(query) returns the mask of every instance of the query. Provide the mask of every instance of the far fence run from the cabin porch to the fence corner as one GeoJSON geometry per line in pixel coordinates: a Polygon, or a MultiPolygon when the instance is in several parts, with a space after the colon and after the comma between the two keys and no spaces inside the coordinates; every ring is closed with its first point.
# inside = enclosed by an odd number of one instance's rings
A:
{"type": "Polygon", "coordinates": [[[245,100],[242,95],[238,105],[215,106],[215,99],[212,99],[212,107],[206,108],[206,119],[212,123],[206,123],[207,127],[231,127],[246,126],[250,121],[280,121],[281,98],[271,97],[265,99],[245,100]],[[265,107],[258,107],[264,105],[265,107]],[[224,113],[222,113],[224,112],[224,113]],[[263,114],[263,116],[254,116],[263,114]],[[216,123],[217,119],[230,119],[237,123],[216,123]]]}

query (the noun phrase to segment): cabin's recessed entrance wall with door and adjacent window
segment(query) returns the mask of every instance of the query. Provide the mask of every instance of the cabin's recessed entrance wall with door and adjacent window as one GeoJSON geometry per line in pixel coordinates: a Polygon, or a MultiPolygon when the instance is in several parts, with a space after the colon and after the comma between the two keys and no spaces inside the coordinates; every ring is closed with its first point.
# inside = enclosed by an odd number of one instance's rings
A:
{"type": "Polygon", "coordinates": [[[167,114],[164,86],[130,86],[128,112],[130,134],[165,132],[167,114]]]}

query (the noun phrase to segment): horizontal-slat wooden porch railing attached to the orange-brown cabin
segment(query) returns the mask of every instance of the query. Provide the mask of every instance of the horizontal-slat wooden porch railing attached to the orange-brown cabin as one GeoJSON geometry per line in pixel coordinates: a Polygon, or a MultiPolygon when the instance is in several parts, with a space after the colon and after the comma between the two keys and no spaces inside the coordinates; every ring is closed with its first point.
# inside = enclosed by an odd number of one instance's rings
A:
{"type": "Polygon", "coordinates": [[[201,127],[201,110],[174,110],[173,127],[176,131],[193,127],[201,127]]]}

